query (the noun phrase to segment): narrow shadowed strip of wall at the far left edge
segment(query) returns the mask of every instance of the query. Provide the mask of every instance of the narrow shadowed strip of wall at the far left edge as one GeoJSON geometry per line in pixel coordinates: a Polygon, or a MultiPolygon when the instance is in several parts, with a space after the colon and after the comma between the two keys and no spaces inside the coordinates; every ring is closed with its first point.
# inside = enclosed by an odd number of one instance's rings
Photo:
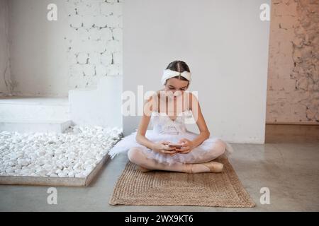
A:
{"type": "Polygon", "coordinates": [[[0,0],[0,96],[11,93],[8,0],[0,0]]]}

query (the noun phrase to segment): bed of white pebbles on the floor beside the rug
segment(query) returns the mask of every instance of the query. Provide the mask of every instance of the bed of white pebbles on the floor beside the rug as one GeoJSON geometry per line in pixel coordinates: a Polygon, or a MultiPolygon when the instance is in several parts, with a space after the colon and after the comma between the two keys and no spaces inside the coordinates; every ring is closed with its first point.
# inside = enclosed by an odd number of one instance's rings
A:
{"type": "Polygon", "coordinates": [[[86,177],[122,137],[118,128],[70,126],[65,133],[0,133],[0,176],[86,177]]]}

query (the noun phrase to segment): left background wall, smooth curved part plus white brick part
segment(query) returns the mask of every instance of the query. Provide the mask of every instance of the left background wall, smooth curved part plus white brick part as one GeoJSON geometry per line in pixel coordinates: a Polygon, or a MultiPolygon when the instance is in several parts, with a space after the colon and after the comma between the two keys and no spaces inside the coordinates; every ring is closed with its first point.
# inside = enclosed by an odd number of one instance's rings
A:
{"type": "Polygon", "coordinates": [[[10,0],[13,94],[67,96],[121,75],[121,16],[121,1],[10,0]],[[47,20],[48,4],[57,21],[47,20]]]}

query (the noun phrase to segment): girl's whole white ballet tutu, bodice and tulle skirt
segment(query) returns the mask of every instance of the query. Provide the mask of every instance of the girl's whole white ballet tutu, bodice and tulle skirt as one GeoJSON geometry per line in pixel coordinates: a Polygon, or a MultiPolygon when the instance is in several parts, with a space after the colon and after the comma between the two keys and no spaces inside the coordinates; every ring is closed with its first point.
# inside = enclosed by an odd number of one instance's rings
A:
{"type": "MultiPolygon", "coordinates": [[[[147,130],[145,137],[152,142],[170,141],[172,143],[178,143],[181,138],[194,140],[194,138],[198,136],[196,133],[187,131],[184,124],[185,112],[182,112],[182,114],[180,114],[175,120],[170,119],[165,113],[152,112],[151,119],[153,129],[147,130]]],[[[124,153],[130,148],[138,147],[143,153],[145,153],[147,158],[155,159],[157,162],[164,164],[171,165],[174,162],[205,162],[205,155],[208,150],[211,150],[213,143],[216,143],[216,141],[222,141],[222,139],[218,137],[210,136],[210,138],[203,141],[201,145],[198,145],[196,148],[191,150],[191,152],[187,154],[177,153],[176,155],[171,156],[157,153],[154,150],[145,147],[144,145],[140,145],[136,141],[135,137],[136,131],[131,133],[129,136],[125,136],[121,139],[121,141],[116,143],[116,145],[108,152],[108,155],[110,155],[111,159],[118,155],[118,153],[124,153]]],[[[225,143],[226,146],[225,154],[229,155],[230,153],[233,153],[233,147],[225,141],[222,142],[225,143]]]]}

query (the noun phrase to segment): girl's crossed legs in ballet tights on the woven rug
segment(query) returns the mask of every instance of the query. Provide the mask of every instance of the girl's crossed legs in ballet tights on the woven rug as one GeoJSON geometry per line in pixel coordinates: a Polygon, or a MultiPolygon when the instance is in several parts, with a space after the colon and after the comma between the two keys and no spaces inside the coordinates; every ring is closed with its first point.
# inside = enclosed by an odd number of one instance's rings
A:
{"type": "Polygon", "coordinates": [[[223,155],[225,152],[225,143],[223,141],[216,141],[213,147],[206,152],[205,155],[198,158],[198,162],[174,162],[172,165],[167,165],[157,160],[148,159],[145,153],[138,147],[130,148],[128,150],[128,159],[136,165],[146,169],[160,169],[174,172],[198,173],[198,172],[212,172],[211,168],[202,162],[209,162],[216,157],[223,155]]]}

